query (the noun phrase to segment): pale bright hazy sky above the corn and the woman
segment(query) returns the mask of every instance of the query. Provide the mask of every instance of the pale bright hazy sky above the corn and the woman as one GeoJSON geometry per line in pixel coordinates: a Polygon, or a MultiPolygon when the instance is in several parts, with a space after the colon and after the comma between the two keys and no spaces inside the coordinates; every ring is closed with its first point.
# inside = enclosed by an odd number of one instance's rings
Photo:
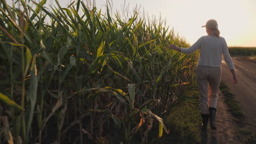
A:
{"type": "MultiPolygon", "coordinates": [[[[73,1],[77,0],[59,0],[59,3],[66,7],[73,1]]],[[[166,25],[173,27],[189,44],[206,35],[206,29],[201,26],[207,20],[215,19],[220,36],[229,46],[256,47],[256,0],[112,0],[114,11],[120,11],[124,2],[129,4],[130,11],[137,5],[149,16],[161,15],[166,25]]],[[[54,0],[48,0],[44,6],[54,3],[54,0]]],[[[97,9],[104,11],[106,0],[95,0],[95,3],[97,9]]]]}

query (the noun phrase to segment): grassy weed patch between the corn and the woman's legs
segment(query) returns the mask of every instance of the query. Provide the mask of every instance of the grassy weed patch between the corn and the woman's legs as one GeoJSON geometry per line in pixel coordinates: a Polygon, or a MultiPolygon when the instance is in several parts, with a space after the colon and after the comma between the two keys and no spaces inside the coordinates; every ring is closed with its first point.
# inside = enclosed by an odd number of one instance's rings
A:
{"type": "Polygon", "coordinates": [[[199,109],[200,93],[190,91],[183,101],[171,107],[165,122],[170,128],[171,137],[176,143],[200,143],[201,115],[199,109]]]}

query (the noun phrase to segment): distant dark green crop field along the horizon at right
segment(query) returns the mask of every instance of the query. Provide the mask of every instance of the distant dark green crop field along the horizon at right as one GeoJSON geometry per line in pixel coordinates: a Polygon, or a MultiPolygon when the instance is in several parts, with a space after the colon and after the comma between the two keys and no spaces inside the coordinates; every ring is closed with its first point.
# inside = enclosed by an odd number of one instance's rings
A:
{"type": "Polygon", "coordinates": [[[229,47],[231,56],[255,56],[256,47],[229,47]]]}

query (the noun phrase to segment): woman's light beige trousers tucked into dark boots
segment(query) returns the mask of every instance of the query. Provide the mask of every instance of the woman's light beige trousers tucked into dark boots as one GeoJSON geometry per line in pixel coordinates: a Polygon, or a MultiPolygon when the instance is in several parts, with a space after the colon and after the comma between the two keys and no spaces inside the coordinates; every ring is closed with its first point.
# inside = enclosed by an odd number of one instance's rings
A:
{"type": "Polygon", "coordinates": [[[208,114],[208,108],[217,108],[219,82],[222,77],[222,67],[208,67],[197,65],[196,80],[197,87],[201,93],[200,111],[208,114]]]}

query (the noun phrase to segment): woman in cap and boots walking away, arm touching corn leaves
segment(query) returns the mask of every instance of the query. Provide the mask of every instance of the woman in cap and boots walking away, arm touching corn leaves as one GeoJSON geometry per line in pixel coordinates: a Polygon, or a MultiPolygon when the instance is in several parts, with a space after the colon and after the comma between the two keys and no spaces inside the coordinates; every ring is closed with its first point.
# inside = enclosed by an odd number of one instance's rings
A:
{"type": "Polygon", "coordinates": [[[217,129],[215,116],[217,111],[217,94],[222,75],[222,56],[233,75],[233,83],[237,83],[234,64],[229,55],[228,46],[223,37],[219,37],[218,23],[216,20],[208,20],[205,26],[208,35],[202,36],[191,47],[181,48],[170,45],[169,48],[182,53],[190,54],[200,49],[200,56],[196,67],[197,87],[201,93],[200,111],[202,116],[202,130],[207,129],[210,116],[211,129],[217,129]]]}

